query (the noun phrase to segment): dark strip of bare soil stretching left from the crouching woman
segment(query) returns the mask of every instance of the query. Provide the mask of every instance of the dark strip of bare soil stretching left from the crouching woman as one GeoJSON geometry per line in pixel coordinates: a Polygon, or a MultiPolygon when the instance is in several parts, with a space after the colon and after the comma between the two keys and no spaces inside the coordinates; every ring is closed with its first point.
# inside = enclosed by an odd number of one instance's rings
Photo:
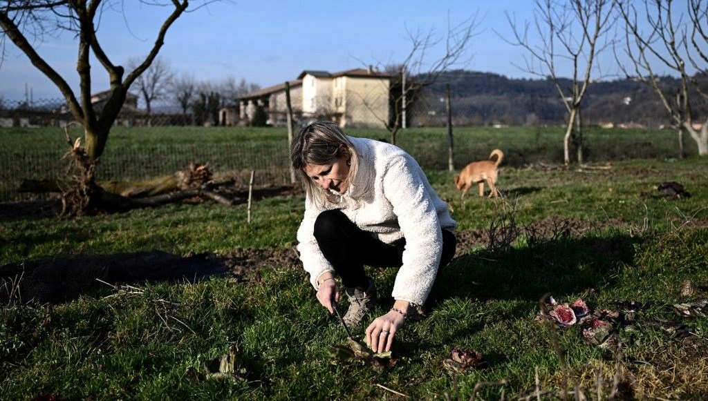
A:
{"type": "Polygon", "coordinates": [[[181,257],[168,252],[57,257],[0,267],[0,303],[62,303],[101,287],[147,282],[197,282],[209,277],[257,279],[265,266],[297,265],[294,249],[234,250],[181,257]]]}

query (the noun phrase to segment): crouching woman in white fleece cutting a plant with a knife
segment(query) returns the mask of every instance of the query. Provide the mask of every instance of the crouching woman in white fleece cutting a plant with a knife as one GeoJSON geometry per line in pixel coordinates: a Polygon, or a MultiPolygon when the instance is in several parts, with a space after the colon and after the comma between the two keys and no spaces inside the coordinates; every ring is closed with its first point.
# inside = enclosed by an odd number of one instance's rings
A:
{"type": "Polygon", "coordinates": [[[425,303],[438,269],[455,256],[456,223],[418,163],[398,147],[313,122],[290,149],[305,189],[297,250],[317,300],[334,312],[336,277],[349,299],[348,325],[362,323],[376,286],[364,269],[398,267],[390,310],[366,329],[373,351],[389,351],[406,317],[425,303]]]}

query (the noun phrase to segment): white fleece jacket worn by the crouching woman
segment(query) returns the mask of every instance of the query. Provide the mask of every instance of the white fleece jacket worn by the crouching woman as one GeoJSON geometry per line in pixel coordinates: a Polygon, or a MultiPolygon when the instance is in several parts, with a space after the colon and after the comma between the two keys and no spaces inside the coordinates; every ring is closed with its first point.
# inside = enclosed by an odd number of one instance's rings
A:
{"type": "MultiPolygon", "coordinates": [[[[457,226],[418,163],[392,144],[348,137],[359,156],[357,175],[338,204],[324,207],[305,198],[305,213],[297,231],[297,250],[312,286],[324,272],[333,272],[314,238],[314,222],[321,211],[341,209],[359,228],[384,243],[406,238],[403,266],[393,298],[423,304],[438,273],[442,253],[441,228],[457,226]]],[[[362,250],[366,252],[366,250],[362,250]]]]}

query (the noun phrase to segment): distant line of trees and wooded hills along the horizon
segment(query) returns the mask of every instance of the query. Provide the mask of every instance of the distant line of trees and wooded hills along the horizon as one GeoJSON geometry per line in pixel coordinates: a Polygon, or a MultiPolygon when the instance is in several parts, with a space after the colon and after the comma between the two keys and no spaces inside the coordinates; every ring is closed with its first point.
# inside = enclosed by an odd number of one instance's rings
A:
{"type": "MultiPolygon", "coordinates": [[[[426,79],[411,76],[411,79],[426,79]]],[[[708,88],[708,75],[695,76],[704,88],[708,88]]],[[[570,80],[569,84],[570,84],[570,80]]],[[[678,88],[679,80],[664,76],[661,81],[667,93],[678,88]]],[[[543,79],[510,79],[489,72],[466,70],[445,71],[435,83],[410,93],[408,127],[440,126],[445,124],[445,86],[450,85],[452,120],[457,126],[536,125],[563,124],[567,112],[559,104],[558,93],[553,83],[543,79]]],[[[164,88],[152,94],[149,110],[152,124],[156,125],[217,125],[219,110],[231,107],[239,110],[239,98],[260,87],[241,79],[229,78],[220,83],[199,82],[190,75],[172,74],[164,88]]],[[[392,88],[392,98],[396,88],[392,88]]],[[[143,91],[136,91],[144,93],[143,91]]],[[[140,96],[140,95],[139,95],[140,96]]],[[[598,81],[588,89],[588,98],[583,105],[584,124],[627,124],[635,127],[668,127],[670,120],[651,88],[632,81],[617,79],[598,81]]],[[[147,110],[147,100],[141,98],[141,110],[147,110]]],[[[59,101],[29,105],[28,102],[0,100],[0,110],[34,110],[48,112],[60,107],[59,101]]],[[[252,122],[244,124],[263,125],[268,116],[260,110],[252,122]]],[[[697,103],[694,110],[705,120],[708,103],[697,103]]],[[[400,118],[400,117],[399,117],[400,118]]],[[[700,121],[700,120],[699,120],[700,121]]]]}

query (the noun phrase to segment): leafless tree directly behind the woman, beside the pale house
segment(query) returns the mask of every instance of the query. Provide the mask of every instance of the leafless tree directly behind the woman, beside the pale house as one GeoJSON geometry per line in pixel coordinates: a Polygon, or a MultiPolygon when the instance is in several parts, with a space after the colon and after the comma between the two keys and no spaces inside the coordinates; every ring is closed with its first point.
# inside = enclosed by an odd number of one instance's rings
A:
{"type": "MultiPolygon", "coordinates": [[[[392,76],[389,83],[389,115],[380,115],[377,108],[368,107],[389,131],[392,144],[396,143],[396,134],[406,127],[406,110],[415,101],[416,93],[437,82],[443,72],[465,64],[467,45],[476,35],[478,27],[477,15],[473,13],[462,23],[448,26],[447,33],[443,36],[436,35],[435,30],[406,29],[411,50],[402,62],[383,66],[384,71],[392,76]],[[442,55],[431,61],[430,53],[440,48],[442,55]]],[[[365,96],[361,98],[365,106],[369,105],[370,100],[365,96]]]]}

